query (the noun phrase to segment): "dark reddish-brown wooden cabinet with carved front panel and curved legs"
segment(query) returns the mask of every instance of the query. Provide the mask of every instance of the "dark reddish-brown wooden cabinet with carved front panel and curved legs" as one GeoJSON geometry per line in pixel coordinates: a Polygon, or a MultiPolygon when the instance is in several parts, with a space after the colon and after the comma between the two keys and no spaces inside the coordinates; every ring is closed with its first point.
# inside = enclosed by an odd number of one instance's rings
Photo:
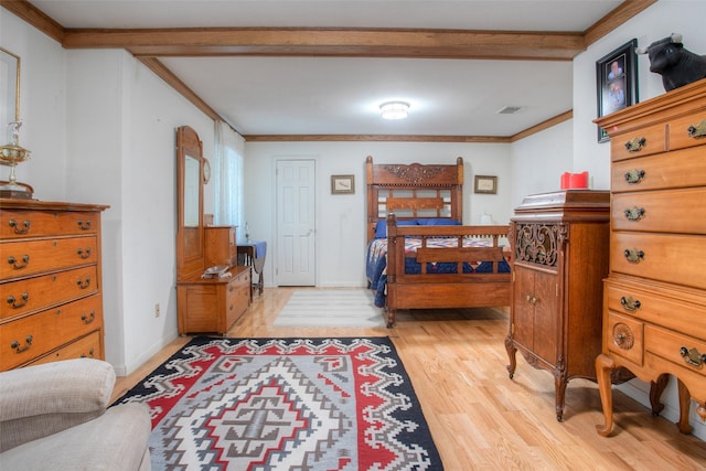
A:
{"type": "Polygon", "coordinates": [[[556,418],[574,377],[596,378],[602,279],[608,275],[609,192],[566,190],[524,199],[511,220],[513,278],[505,347],[554,374],[556,418]]]}

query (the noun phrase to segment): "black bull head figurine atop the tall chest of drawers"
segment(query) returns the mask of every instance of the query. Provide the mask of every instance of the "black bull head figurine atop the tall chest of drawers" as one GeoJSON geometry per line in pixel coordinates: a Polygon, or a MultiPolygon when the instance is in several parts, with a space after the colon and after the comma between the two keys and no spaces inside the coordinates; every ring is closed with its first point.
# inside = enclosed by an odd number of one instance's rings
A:
{"type": "Polygon", "coordinates": [[[646,49],[637,49],[635,52],[648,54],[650,72],[662,75],[662,85],[666,92],[706,77],[706,55],[685,50],[681,34],[673,33],[646,49]]]}

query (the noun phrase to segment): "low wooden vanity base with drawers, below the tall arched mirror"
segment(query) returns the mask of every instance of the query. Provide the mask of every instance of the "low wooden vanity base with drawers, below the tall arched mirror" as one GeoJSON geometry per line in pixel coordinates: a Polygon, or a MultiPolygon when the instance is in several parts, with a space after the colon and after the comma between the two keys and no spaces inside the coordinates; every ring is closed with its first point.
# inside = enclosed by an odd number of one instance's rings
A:
{"type": "Polygon", "coordinates": [[[204,227],[205,266],[229,266],[225,278],[193,274],[176,283],[179,333],[224,334],[250,306],[250,267],[237,266],[235,226],[204,227]]]}

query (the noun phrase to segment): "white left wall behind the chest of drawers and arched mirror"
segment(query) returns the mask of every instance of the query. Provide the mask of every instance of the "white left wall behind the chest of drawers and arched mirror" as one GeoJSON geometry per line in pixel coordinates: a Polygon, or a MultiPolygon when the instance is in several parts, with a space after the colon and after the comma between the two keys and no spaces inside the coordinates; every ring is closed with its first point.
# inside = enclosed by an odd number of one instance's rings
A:
{"type": "Polygon", "coordinates": [[[4,9],[0,31],[21,58],[20,142],[32,158],[19,180],[40,200],[110,206],[106,360],[129,373],[176,336],[175,128],[193,127],[212,158],[213,121],[122,50],[65,51],[4,9]]]}

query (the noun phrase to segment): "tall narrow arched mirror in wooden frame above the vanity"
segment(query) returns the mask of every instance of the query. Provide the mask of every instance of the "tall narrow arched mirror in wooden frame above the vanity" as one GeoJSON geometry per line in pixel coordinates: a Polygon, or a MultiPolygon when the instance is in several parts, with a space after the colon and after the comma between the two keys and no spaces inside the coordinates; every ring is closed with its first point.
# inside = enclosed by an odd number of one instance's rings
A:
{"type": "Polygon", "coordinates": [[[189,126],[176,129],[176,277],[201,276],[204,268],[203,148],[189,126]]]}

